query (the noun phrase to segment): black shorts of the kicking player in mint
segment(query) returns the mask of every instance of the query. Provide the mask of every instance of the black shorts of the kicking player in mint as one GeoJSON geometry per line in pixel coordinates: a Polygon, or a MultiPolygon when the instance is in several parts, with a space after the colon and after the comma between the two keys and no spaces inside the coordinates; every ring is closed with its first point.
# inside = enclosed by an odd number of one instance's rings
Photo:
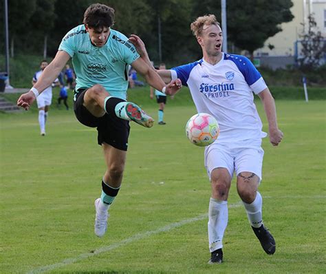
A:
{"type": "Polygon", "coordinates": [[[74,112],[77,120],[87,127],[96,127],[98,130],[98,145],[107,143],[116,149],[127,151],[129,137],[129,121],[107,113],[102,117],[93,116],[83,106],[84,95],[87,89],[78,89],[75,92],[74,112]]]}

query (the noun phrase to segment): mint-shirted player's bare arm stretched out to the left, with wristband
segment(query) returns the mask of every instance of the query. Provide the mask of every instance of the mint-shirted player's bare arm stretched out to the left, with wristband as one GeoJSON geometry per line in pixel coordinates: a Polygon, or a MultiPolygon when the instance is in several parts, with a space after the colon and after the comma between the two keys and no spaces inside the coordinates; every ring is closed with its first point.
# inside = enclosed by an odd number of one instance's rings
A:
{"type": "MultiPolygon", "coordinates": [[[[58,74],[60,74],[61,70],[63,70],[63,67],[69,61],[70,56],[67,54],[67,52],[64,51],[58,51],[56,53],[56,56],[54,57],[53,61],[45,67],[44,72],[42,73],[41,77],[39,78],[39,81],[37,83],[34,83],[34,90],[36,90],[36,93],[43,92],[44,89],[52,85],[53,81],[58,77],[58,74]]],[[[17,105],[19,107],[23,107],[25,110],[28,110],[30,108],[30,105],[35,101],[36,94],[32,92],[32,89],[22,94],[18,101],[17,105]]]]}

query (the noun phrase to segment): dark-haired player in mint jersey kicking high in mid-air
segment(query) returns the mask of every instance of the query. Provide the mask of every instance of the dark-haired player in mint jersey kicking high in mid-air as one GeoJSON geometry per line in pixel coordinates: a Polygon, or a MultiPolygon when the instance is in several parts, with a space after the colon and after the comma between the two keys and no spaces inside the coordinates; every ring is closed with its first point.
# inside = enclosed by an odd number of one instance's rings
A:
{"type": "Polygon", "coordinates": [[[98,237],[107,231],[108,209],[122,182],[129,120],[144,127],[153,125],[153,119],[138,105],[126,101],[128,66],[142,74],[149,85],[166,94],[175,93],[182,87],[180,80],[165,85],[155,70],[140,58],[127,37],[111,29],[113,17],[113,8],[99,3],[89,6],[83,25],[65,35],[54,60],[39,81],[17,101],[17,105],[28,109],[72,58],[76,74],[74,112],[80,123],[97,128],[98,145],[102,146],[107,165],[101,181],[101,197],[95,201],[94,230],[98,237]]]}

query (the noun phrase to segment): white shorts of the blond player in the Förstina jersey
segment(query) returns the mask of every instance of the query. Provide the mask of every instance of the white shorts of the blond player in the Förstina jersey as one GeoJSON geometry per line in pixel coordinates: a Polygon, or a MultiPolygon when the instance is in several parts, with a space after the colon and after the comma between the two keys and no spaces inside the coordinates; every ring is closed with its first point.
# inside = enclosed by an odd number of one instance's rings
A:
{"type": "Polygon", "coordinates": [[[252,172],[261,181],[261,169],[263,167],[263,149],[261,139],[242,140],[230,144],[213,143],[205,149],[204,165],[208,177],[213,169],[224,167],[228,169],[231,178],[241,172],[252,172]]]}

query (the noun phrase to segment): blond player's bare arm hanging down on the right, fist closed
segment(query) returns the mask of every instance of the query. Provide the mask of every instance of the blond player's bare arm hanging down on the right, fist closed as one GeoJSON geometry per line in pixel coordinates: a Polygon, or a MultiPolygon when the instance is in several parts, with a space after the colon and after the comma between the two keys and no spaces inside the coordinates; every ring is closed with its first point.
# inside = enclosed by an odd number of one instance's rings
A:
{"type": "Polygon", "coordinates": [[[277,125],[274,98],[272,94],[270,94],[270,89],[268,88],[265,88],[262,92],[259,92],[258,96],[263,102],[263,107],[265,109],[266,117],[268,120],[270,143],[274,146],[279,145],[283,138],[283,132],[279,129],[277,125]]]}

